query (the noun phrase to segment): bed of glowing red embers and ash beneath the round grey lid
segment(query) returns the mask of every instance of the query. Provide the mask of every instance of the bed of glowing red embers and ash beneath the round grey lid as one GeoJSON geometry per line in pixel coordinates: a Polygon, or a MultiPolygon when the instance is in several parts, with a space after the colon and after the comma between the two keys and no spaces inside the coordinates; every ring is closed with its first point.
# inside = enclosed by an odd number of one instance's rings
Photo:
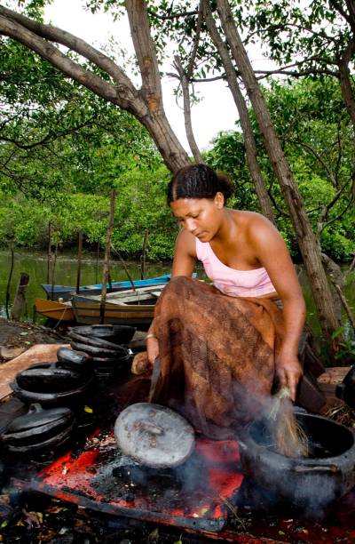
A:
{"type": "Polygon", "coordinates": [[[238,444],[196,437],[193,453],[175,468],[146,468],[123,455],[113,432],[99,433],[73,459],[65,455],[32,482],[36,490],[89,508],[180,527],[220,530],[225,502],[242,476],[238,444]]]}

